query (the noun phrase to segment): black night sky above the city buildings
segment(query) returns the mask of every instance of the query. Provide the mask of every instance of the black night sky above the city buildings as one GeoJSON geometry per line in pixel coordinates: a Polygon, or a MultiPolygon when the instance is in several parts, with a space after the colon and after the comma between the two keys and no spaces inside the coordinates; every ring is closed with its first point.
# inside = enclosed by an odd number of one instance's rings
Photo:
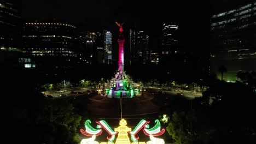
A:
{"type": "MultiPolygon", "coordinates": [[[[194,46],[200,51],[209,44],[211,14],[230,5],[237,5],[237,2],[234,0],[210,0],[210,3],[162,0],[23,0],[22,19],[24,21],[56,19],[71,23],[80,29],[104,28],[112,31],[113,34],[118,32],[114,21],[124,22],[125,30],[133,27],[136,22],[136,28],[149,32],[149,37],[153,41],[157,41],[160,37],[164,22],[173,22],[179,25],[187,45],[194,46]]],[[[153,43],[153,47],[157,45],[153,43]]]]}

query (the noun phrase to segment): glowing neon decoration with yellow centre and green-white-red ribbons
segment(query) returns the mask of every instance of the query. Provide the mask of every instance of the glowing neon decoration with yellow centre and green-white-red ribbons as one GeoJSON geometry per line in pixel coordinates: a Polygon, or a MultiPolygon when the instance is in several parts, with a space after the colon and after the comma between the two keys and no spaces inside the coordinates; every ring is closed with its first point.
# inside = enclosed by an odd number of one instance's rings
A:
{"type": "Polygon", "coordinates": [[[107,131],[107,133],[110,135],[110,137],[107,136],[108,142],[101,142],[100,144],[146,144],[146,142],[138,142],[139,137],[136,137],[136,134],[143,129],[144,134],[150,137],[150,141],[147,142],[147,144],[164,144],[164,140],[155,138],[154,136],[159,136],[165,133],[165,129],[163,128],[160,130],[161,124],[158,119],[155,120],[154,127],[149,129],[148,123],[149,121],[145,121],[142,119],[135,129],[131,129],[127,127],[127,123],[125,119],[121,119],[119,122],[119,127],[115,128],[114,130],[109,127],[108,123],[106,121],[97,121],[98,124],[95,128],[92,128],[90,125],[91,121],[88,119],[85,121],[85,130],[80,129],[80,132],[83,135],[91,136],[90,139],[83,139],[81,141],[81,144],[98,144],[97,141],[95,141],[96,136],[99,136],[102,134],[102,128],[107,131]],[[132,143],[130,142],[129,135],[131,137],[132,143]],[[115,135],[118,135],[117,139],[115,139],[115,135]],[[115,140],[115,143],[113,142],[115,140]]]}

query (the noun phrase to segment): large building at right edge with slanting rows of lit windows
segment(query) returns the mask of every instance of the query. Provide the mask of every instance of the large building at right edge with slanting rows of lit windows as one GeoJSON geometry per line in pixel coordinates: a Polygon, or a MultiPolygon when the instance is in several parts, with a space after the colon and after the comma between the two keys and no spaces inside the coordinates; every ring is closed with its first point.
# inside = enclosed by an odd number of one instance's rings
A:
{"type": "Polygon", "coordinates": [[[224,80],[235,81],[238,70],[256,70],[256,2],[211,16],[211,73],[224,65],[224,80]]]}

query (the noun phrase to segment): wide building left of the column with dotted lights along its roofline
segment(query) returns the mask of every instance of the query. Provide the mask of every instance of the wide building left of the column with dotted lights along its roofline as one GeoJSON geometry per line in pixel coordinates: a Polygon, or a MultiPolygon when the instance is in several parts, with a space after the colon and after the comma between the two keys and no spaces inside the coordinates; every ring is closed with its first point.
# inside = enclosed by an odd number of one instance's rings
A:
{"type": "Polygon", "coordinates": [[[73,61],[75,26],[59,22],[26,22],[22,27],[22,51],[36,62],[73,61]]]}

